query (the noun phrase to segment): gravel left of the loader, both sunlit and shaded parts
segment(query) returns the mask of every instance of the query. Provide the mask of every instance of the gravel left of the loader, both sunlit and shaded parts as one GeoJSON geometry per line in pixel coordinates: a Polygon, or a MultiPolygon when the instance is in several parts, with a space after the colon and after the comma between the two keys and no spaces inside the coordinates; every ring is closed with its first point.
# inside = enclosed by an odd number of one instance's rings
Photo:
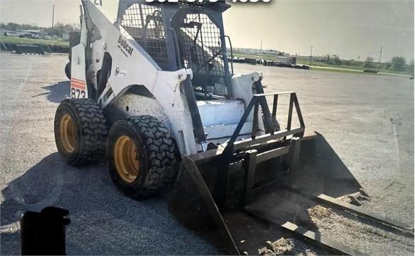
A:
{"type": "Polygon", "coordinates": [[[215,255],[181,227],[167,198],[138,202],[121,195],[103,164],[76,169],[56,153],[53,120],[68,97],[68,57],[0,53],[0,254],[19,254],[18,219],[56,205],[69,210],[71,255],[215,255]]]}

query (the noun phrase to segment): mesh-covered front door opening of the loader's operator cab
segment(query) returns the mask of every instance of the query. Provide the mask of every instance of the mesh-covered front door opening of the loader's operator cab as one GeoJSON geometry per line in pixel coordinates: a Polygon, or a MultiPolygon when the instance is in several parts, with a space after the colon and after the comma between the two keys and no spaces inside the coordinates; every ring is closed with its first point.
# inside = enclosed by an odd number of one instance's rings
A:
{"type": "Polygon", "coordinates": [[[224,76],[219,28],[203,13],[187,14],[184,24],[181,58],[186,68],[194,73],[224,76]]]}

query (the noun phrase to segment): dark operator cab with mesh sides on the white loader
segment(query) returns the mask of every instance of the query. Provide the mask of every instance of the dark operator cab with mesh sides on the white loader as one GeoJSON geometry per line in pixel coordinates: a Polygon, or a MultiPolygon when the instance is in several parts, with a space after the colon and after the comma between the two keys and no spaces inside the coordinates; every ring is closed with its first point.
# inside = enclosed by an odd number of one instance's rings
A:
{"type": "Polygon", "coordinates": [[[197,99],[231,98],[233,68],[232,63],[229,67],[229,37],[224,35],[222,19],[229,7],[224,1],[153,4],[121,0],[117,23],[162,70],[191,68],[197,99]]]}

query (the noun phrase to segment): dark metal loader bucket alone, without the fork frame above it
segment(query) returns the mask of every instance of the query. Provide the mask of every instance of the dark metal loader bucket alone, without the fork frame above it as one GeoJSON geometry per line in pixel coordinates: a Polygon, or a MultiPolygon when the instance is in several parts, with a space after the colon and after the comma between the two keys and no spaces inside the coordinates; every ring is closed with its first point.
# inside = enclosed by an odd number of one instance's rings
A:
{"type": "Polygon", "coordinates": [[[307,209],[320,194],[342,197],[361,189],[320,134],[266,152],[276,150],[281,153],[274,158],[250,149],[229,159],[220,148],[184,157],[169,211],[227,253],[258,254],[266,241],[284,236],[287,221],[315,229],[307,209]]]}

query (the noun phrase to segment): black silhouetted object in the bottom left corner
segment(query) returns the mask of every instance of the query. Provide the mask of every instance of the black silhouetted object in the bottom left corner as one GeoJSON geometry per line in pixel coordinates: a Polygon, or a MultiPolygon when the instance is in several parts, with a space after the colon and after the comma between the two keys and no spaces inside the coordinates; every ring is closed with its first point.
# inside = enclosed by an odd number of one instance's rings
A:
{"type": "Polygon", "coordinates": [[[66,255],[65,226],[67,209],[46,207],[39,212],[25,212],[20,219],[21,255],[66,255]]]}

